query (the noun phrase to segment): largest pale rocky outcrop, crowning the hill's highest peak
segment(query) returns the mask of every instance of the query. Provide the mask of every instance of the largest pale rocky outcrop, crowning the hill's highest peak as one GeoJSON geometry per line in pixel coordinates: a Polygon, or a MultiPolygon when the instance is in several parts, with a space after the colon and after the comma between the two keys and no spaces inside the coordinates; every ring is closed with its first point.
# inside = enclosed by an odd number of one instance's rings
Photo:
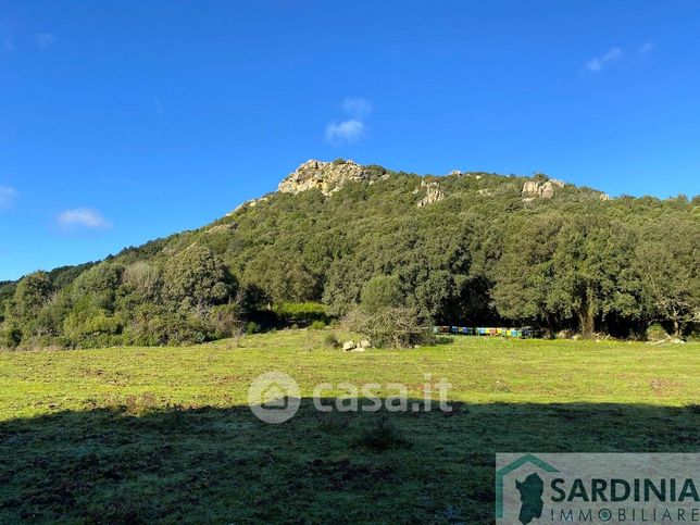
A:
{"type": "Polygon", "coordinates": [[[346,183],[374,178],[373,172],[353,161],[323,162],[310,160],[297,167],[282,183],[283,193],[299,193],[309,189],[318,189],[329,196],[338,191],[346,183]]]}

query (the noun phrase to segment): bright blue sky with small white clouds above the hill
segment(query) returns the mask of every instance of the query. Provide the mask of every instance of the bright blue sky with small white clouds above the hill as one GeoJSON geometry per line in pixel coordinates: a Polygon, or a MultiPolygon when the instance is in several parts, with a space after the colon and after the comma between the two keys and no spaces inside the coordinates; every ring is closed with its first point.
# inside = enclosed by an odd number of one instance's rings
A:
{"type": "Polygon", "coordinates": [[[308,159],[700,189],[698,1],[0,0],[0,279],[308,159]]]}

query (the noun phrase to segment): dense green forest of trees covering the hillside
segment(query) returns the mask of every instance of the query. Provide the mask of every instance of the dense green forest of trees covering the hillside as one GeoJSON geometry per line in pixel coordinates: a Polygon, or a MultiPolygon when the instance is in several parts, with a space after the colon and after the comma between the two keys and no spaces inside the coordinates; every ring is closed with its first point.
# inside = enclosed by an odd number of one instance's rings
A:
{"type": "Polygon", "coordinates": [[[526,178],[478,174],[428,177],[447,197],[417,207],[421,177],[372,168],[390,176],[330,197],[272,193],[99,263],[0,284],[0,347],[204,341],[288,302],[340,317],[377,277],[424,325],[698,329],[698,197],[603,201],[565,186],[526,202],[526,178]]]}

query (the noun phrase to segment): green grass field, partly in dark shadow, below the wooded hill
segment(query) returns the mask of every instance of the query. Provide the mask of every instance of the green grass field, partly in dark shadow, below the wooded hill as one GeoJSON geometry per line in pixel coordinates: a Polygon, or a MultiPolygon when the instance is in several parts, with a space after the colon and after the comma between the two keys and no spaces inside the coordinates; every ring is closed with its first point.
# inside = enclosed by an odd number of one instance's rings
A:
{"type": "Polygon", "coordinates": [[[0,352],[0,523],[491,523],[496,452],[700,451],[700,343],[345,353],[324,335],[0,352]],[[280,425],[247,405],[272,370],[302,390],[280,425]],[[453,385],[452,412],[310,399],[320,383],[330,398],[340,383],[401,383],[417,400],[424,374],[453,385]]]}

